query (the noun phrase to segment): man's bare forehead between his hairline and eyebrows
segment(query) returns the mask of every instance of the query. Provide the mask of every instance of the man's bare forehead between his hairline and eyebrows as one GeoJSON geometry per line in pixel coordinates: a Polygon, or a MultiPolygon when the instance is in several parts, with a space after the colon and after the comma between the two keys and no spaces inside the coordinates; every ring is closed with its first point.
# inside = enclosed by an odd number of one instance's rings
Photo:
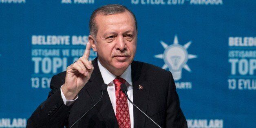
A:
{"type": "Polygon", "coordinates": [[[101,30],[106,31],[107,29],[121,29],[127,26],[132,27],[131,29],[135,29],[135,20],[128,11],[111,15],[98,14],[95,17],[95,22],[98,32],[101,30]]]}

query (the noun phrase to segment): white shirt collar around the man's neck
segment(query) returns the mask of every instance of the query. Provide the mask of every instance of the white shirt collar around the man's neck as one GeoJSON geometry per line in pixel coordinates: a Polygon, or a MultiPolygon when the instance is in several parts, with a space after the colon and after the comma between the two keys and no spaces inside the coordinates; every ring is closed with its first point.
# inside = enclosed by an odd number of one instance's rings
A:
{"type": "MultiPolygon", "coordinates": [[[[117,76],[113,75],[112,73],[110,73],[110,71],[108,71],[104,66],[102,66],[102,64],[99,62],[99,60],[97,61],[97,63],[99,66],[99,71],[102,74],[102,78],[103,78],[105,84],[109,84],[117,77],[117,76]]],[[[132,85],[131,65],[128,66],[126,71],[124,71],[124,73],[120,77],[125,79],[126,82],[128,82],[130,85],[132,85]]]]}

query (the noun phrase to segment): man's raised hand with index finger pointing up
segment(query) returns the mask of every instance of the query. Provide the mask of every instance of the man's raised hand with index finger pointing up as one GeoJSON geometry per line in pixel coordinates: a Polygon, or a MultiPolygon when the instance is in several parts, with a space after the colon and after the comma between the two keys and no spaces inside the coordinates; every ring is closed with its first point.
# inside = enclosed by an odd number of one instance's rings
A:
{"type": "Polygon", "coordinates": [[[74,99],[90,79],[90,75],[93,73],[94,67],[92,62],[88,61],[89,55],[90,42],[86,44],[84,55],[75,63],[67,67],[65,83],[62,86],[62,92],[66,99],[74,99]]]}

